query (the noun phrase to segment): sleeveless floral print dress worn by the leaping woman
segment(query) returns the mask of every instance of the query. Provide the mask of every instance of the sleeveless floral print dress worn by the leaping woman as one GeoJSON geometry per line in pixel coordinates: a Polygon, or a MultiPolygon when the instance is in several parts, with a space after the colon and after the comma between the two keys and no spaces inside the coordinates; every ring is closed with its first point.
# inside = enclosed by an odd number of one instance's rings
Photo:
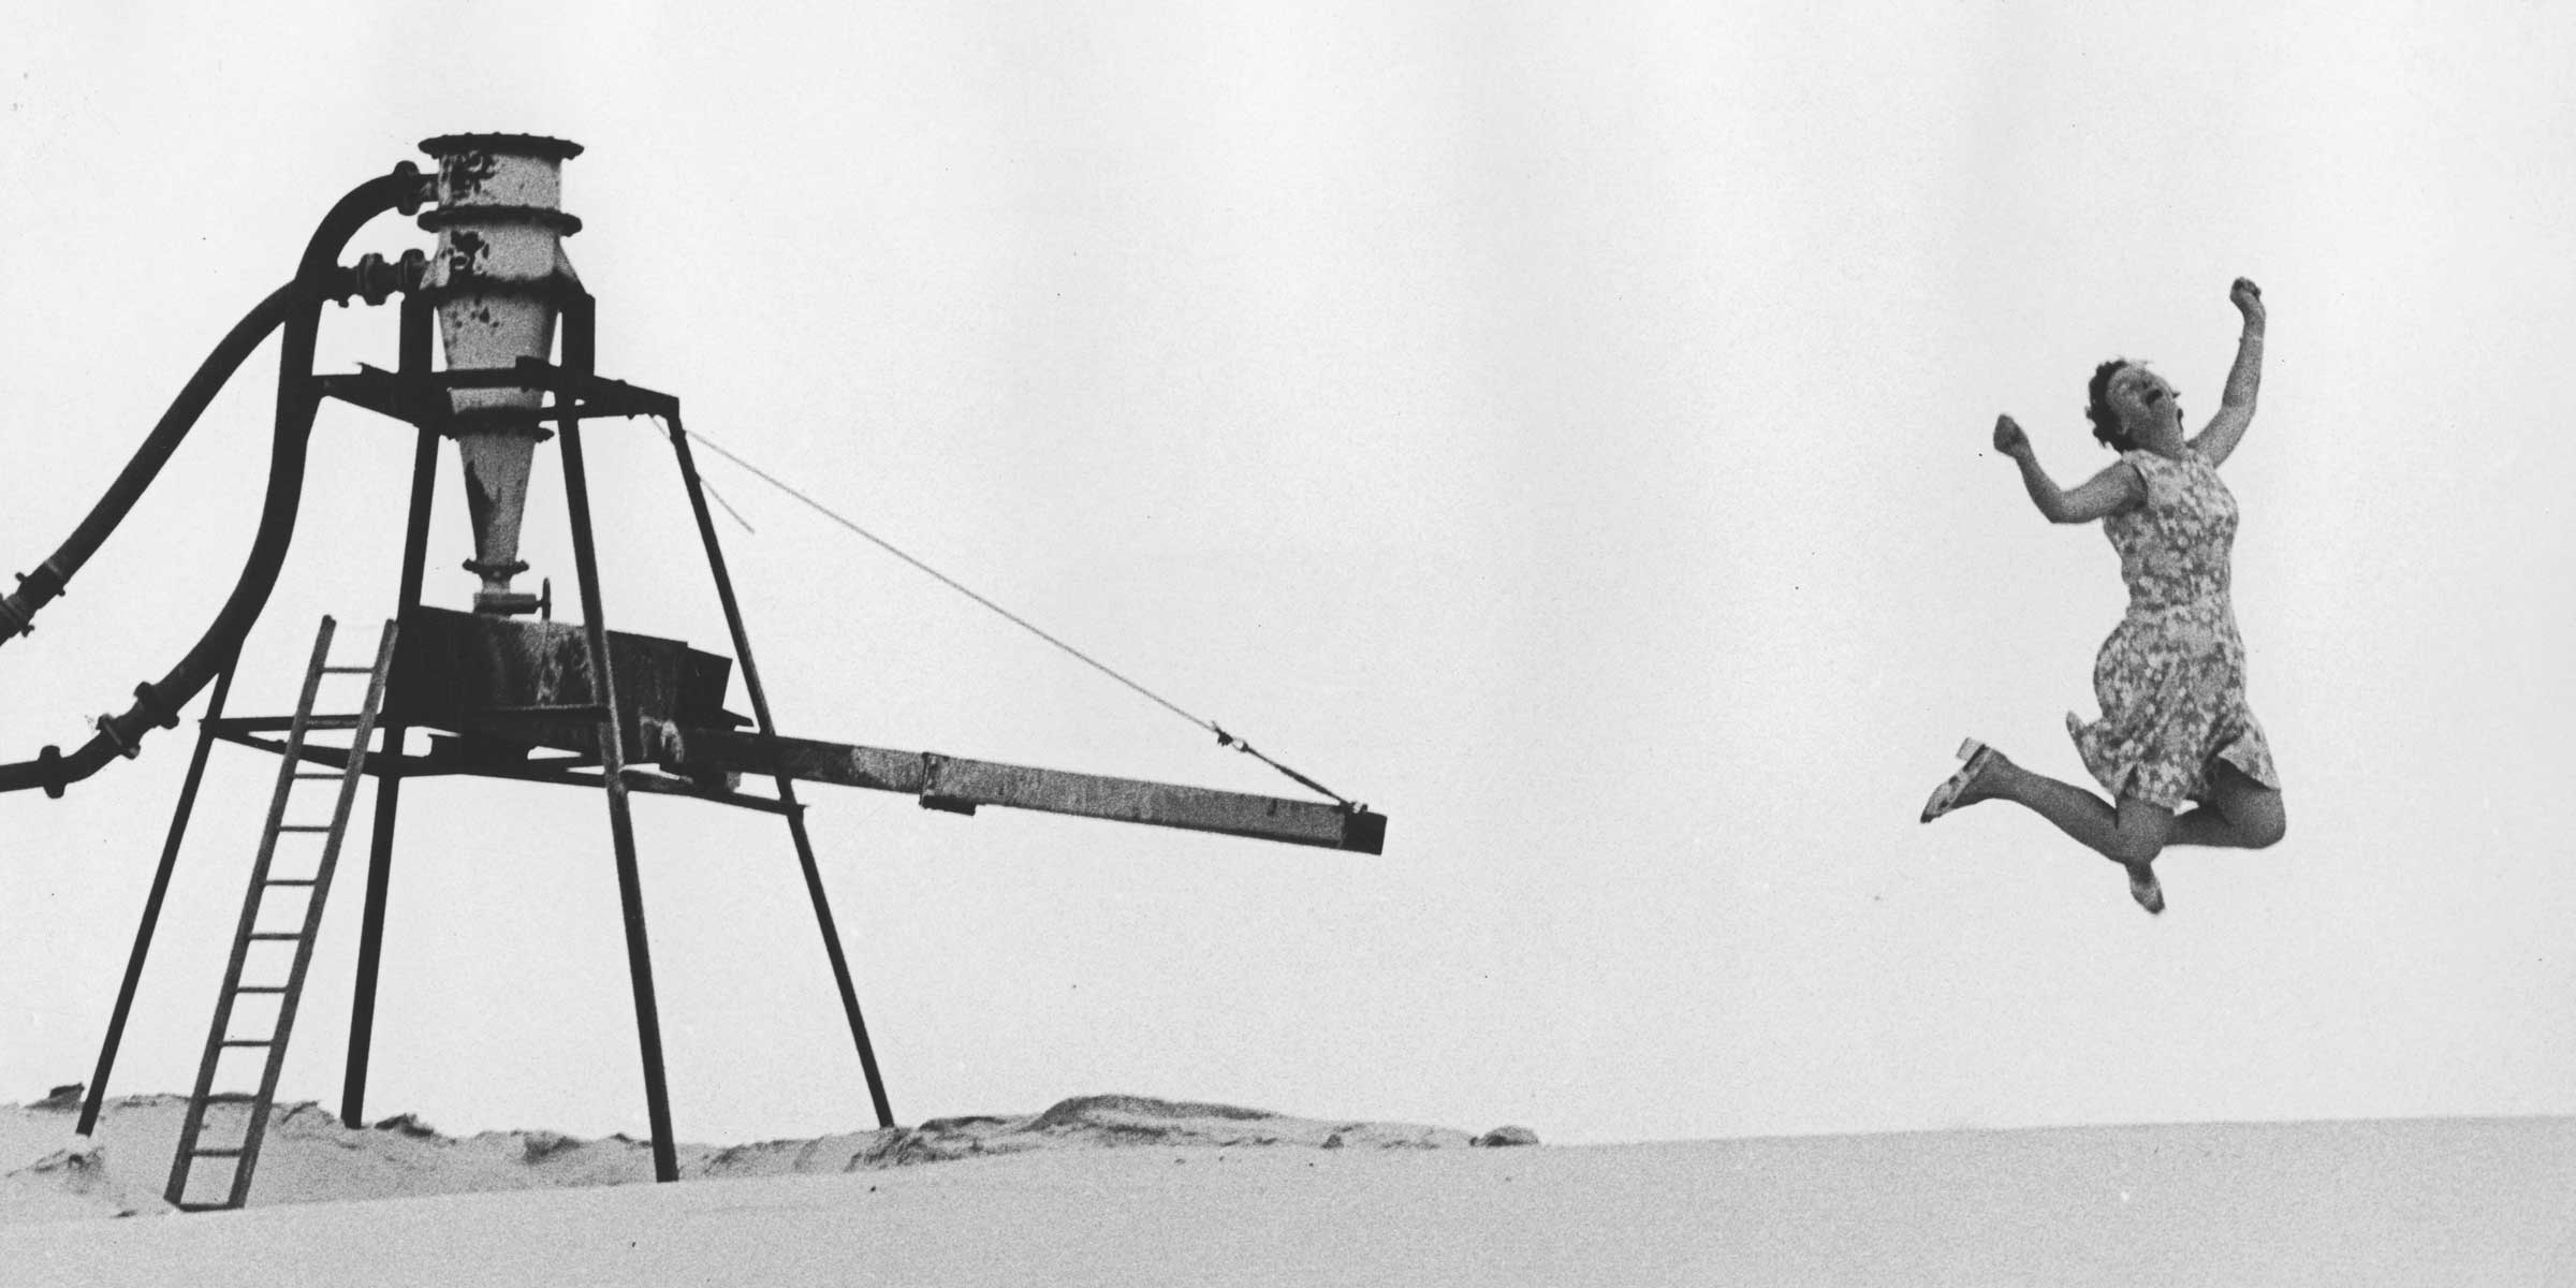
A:
{"type": "Polygon", "coordinates": [[[2226,760],[2280,788],[2272,744],[2246,706],[2246,644],[2228,603],[2236,497],[2200,451],[2179,461],[2123,451],[2146,505],[2102,520],[2120,551],[2128,616],[2094,654],[2102,719],[2066,714],[2084,768],[2112,793],[2164,809],[2208,796],[2226,760]]]}

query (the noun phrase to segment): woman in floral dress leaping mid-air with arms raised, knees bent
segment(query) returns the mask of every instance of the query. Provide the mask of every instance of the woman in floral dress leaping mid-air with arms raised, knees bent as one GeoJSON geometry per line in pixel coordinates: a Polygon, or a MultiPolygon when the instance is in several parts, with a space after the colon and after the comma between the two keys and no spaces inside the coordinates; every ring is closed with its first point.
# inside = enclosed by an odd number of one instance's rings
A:
{"type": "Polygon", "coordinates": [[[2050,482],[2030,435],[2009,415],[1994,420],[1994,451],[2022,469],[2040,515],[2102,520],[2120,551],[2128,616],[2094,657],[2102,719],[2084,724],[2066,714],[2066,732],[2110,801],[1968,739],[1958,750],[1965,765],[1932,791],[1922,819],[1976,801],[2022,804],[2128,868],[2128,894],[2148,912],[2164,912],[2156,855],[2166,845],[2262,850],[2285,829],[2280,773],[2246,706],[2246,647],[2228,605],[2236,497],[2218,482],[2218,466],[2254,420],[2264,307],[2246,278],[2236,278],[2228,301],[2244,314],[2244,332],[2218,415],[2200,435],[2184,438],[2174,386],[2125,358],[2094,371],[2084,410],[2094,438],[2120,459],[2081,487],[2050,482]],[[2184,809],[2187,801],[2197,809],[2184,809]]]}

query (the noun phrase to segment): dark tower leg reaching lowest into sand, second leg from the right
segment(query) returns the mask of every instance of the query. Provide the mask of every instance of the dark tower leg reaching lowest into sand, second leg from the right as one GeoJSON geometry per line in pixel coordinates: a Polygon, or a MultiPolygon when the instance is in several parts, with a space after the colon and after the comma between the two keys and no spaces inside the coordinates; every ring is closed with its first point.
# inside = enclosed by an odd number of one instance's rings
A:
{"type": "MultiPolygon", "coordinates": [[[[592,301],[577,296],[564,307],[564,371],[590,374],[592,301]]],[[[569,394],[556,394],[569,404],[569,394]]],[[[582,629],[590,636],[592,698],[600,703],[600,778],[608,786],[608,837],[618,853],[618,904],[626,914],[626,971],[636,994],[636,1046],[644,1054],[644,1113],[652,1121],[654,1180],[680,1180],[680,1159],[670,1139],[670,1087],[662,1079],[662,1010],[652,987],[652,948],[644,938],[644,886],[636,871],[634,814],[626,801],[626,737],[618,729],[618,688],[608,659],[608,626],[600,611],[600,562],[590,533],[590,477],[582,469],[582,422],[562,420],[564,500],[572,518],[572,564],[582,582],[582,629]]]]}

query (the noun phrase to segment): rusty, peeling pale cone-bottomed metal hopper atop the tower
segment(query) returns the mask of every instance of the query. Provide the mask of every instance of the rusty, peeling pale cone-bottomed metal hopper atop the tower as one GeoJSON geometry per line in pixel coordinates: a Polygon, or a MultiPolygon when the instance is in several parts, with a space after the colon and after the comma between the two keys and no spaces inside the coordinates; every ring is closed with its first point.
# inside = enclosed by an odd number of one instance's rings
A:
{"type": "MultiPolygon", "coordinates": [[[[425,139],[438,157],[438,209],[420,227],[438,234],[422,276],[422,299],[438,309],[438,337],[448,371],[505,371],[520,358],[554,353],[554,322],[567,299],[582,294],[564,237],[582,222],[564,214],[564,162],[582,144],[538,134],[443,134],[425,139]]],[[[544,389],[451,389],[456,438],[466,469],[466,518],[474,523],[474,559],[482,577],[477,613],[533,613],[538,598],[510,590],[528,569],[518,556],[520,515],[528,505],[528,466],[549,435],[544,389]]]]}

